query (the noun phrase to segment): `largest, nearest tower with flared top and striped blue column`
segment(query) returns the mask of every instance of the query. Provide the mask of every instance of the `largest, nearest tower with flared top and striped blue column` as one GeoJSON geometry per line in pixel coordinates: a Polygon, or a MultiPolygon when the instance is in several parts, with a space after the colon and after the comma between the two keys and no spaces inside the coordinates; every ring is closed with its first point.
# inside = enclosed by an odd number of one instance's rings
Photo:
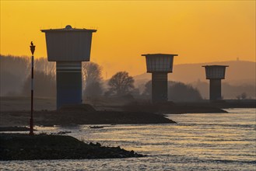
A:
{"type": "Polygon", "coordinates": [[[41,30],[45,33],[48,61],[56,61],[57,109],[82,103],[82,61],[89,61],[93,32],[96,30],[41,30]]]}

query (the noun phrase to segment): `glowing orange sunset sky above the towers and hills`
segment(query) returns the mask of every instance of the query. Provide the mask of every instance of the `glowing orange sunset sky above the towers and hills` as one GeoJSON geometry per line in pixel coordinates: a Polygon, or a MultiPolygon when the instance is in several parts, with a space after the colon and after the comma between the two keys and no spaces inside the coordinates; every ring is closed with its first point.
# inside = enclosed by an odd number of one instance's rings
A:
{"type": "MultiPolygon", "coordinates": [[[[141,54],[179,54],[174,64],[255,61],[255,1],[1,1],[1,54],[46,57],[41,29],[96,29],[91,61],[146,72],[141,54]]],[[[175,71],[174,71],[175,72],[175,71]]]]}

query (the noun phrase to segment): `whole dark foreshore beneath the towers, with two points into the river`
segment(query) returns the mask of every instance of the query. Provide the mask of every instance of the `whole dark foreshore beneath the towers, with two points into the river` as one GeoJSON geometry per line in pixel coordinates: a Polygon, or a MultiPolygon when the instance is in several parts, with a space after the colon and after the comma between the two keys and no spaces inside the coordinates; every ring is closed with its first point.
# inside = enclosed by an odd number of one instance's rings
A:
{"type": "MultiPolygon", "coordinates": [[[[59,110],[33,111],[34,125],[78,124],[176,124],[163,113],[226,113],[212,106],[188,106],[174,103],[136,104],[94,109],[89,104],[62,106],[59,110]]],[[[0,126],[29,125],[30,110],[1,111],[0,126]]]]}

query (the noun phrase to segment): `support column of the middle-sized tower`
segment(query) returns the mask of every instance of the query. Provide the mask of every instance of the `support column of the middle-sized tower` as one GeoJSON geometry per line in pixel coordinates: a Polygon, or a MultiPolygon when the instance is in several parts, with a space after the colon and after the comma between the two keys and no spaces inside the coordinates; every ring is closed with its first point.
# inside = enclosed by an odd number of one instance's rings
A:
{"type": "Polygon", "coordinates": [[[152,101],[153,103],[167,102],[168,82],[167,72],[152,73],[152,101]]]}

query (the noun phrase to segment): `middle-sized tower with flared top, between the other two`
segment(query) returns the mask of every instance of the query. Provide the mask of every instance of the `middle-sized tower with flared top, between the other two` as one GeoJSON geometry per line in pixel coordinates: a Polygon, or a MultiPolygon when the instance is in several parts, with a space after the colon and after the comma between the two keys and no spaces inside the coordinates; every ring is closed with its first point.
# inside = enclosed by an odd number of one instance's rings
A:
{"type": "Polygon", "coordinates": [[[177,54],[142,54],[146,57],[147,72],[152,73],[152,102],[168,100],[169,72],[173,72],[174,56],[177,54]]]}

